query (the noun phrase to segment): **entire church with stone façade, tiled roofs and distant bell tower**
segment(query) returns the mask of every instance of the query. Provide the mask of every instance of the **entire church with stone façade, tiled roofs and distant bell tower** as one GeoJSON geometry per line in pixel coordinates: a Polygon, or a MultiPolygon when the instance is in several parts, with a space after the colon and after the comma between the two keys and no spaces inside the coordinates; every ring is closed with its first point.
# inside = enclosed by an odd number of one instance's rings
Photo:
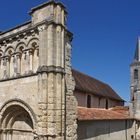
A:
{"type": "Polygon", "coordinates": [[[30,15],[0,33],[0,140],[140,139],[139,43],[129,113],[109,85],[71,68],[62,3],[49,1],[30,15]]]}

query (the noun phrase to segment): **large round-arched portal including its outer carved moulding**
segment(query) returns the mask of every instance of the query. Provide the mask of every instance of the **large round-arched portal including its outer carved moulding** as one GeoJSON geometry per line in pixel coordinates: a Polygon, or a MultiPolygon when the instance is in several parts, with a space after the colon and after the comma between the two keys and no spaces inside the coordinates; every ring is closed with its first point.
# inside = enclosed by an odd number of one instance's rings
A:
{"type": "Polygon", "coordinates": [[[23,101],[6,102],[0,109],[0,139],[15,140],[26,137],[32,140],[36,131],[36,118],[32,109],[23,101]]]}

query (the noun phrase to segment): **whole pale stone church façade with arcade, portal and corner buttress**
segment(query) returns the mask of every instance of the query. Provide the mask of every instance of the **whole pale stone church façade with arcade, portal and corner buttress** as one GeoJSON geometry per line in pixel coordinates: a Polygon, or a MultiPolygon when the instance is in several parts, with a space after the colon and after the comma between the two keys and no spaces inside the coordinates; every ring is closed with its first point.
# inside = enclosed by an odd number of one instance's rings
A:
{"type": "Polygon", "coordinates": [[[30,14],[31,22],[0,34],[0,138],[76,140],[72,34],[65,7],[51,1],[30,14]]]}

